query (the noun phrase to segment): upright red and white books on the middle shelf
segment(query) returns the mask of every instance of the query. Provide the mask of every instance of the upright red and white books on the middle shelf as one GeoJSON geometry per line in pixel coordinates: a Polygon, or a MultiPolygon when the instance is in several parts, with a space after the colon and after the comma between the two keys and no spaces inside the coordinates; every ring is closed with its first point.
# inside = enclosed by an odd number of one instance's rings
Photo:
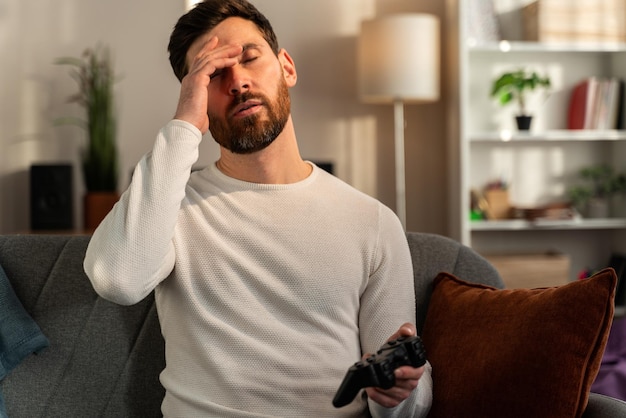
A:
{"type": "Polygon", "coordinates": [[[625,129],[624,80],[588,77],[572,90],[567,113],[568,129],[625,129]]]}

